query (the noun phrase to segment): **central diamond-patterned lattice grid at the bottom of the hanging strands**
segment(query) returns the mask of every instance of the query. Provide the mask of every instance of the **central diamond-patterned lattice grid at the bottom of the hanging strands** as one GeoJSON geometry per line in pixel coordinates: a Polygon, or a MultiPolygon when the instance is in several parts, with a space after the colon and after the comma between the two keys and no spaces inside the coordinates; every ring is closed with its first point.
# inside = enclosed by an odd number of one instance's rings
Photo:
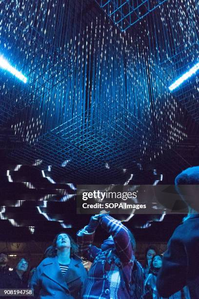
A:
{"type": "MultiPolygon", "coordinates": [[[[85,111],[84,122],[82,115],[78,115],[43,134],[33,144],[13,151],[11,156],[27,164],[40,159],[43,169],[53,165],[56,174],[62,173],[75,181],[77,177],[83,182],[92,176],[92,182],[95,173],[104,177],[104,172],[107,177],[125,179],[122,169],[128,169],[130,164],[133,169],[140,162],[143,150],[140,140],[149,137],[149,130],[121,105],[112,109],[100,107],[95,118],[91,109],[85,111]]],[[[154,140],[150,136],[152,144],[154,140]]]]}

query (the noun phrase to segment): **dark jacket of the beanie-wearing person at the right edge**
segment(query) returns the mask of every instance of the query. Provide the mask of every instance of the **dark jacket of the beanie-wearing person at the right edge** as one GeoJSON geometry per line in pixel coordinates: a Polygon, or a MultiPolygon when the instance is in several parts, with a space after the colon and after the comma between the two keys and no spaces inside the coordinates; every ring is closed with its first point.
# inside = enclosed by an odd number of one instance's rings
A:
{"type": "Polygon", "coordinates": [[[199,214],[192,214],[175,230],[157,278],[162,297],[169,297],[185,285],[191,298],[199,299],[199,214]]]}

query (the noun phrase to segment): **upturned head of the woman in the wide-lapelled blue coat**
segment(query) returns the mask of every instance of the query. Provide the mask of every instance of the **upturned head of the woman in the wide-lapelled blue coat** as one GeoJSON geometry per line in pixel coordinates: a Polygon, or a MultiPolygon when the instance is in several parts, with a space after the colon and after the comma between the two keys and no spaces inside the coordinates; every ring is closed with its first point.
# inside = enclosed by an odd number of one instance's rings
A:
{"type": "Polygon", "coordinates": [[[57,255],[58,250],[64,249],[70,249],[70,257],[78,253],[78,246],[73,238],[64,232],[61,232],[55,236],[52,245],[45,251],[45,256],[54,257],[57,255]]]}

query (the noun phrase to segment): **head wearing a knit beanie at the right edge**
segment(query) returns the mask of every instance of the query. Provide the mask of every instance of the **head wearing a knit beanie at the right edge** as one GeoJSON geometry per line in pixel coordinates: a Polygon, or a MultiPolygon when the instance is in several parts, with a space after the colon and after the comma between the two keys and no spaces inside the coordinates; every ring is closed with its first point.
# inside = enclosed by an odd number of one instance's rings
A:
{"type": "Polygon", "coordinates": [[[177,192],[188,205],[189,211],[194,210],[199,213],[199,166],[180,172],[175,179],[175,185],[177,192]]]}

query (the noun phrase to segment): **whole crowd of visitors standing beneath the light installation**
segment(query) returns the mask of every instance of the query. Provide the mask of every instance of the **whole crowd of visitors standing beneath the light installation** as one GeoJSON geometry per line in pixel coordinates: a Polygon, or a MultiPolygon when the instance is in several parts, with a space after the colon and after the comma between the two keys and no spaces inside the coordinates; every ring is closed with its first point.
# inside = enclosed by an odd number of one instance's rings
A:
{"type": "Polygon", "coordinates": [[[25,258],[10,272],[7,255],[0,253],[0,288],[30,288],[34,298],[39,299],[199,298],[199,211],[196,205],[199,167],[182,171],[175,184],[189,207],[189,214],[175,230],[163,255],[150,246],[141,265],[135,256],[136,241],[131,231],[101,211],[77,233],[77,244],[65,232],[56,235],[45,252],[46,257],[32,269],[29,279],[24,279],[28,270],[25,258]],[[184,192],[187,185],[193,188],[184,192]],[[190,190],[191,196],[187,196],[190,190]],[[93,245],[99,226],[109,234],[100,248],[93,245]],[[80,256],[92,262],[88,273],[80,256]]]}

